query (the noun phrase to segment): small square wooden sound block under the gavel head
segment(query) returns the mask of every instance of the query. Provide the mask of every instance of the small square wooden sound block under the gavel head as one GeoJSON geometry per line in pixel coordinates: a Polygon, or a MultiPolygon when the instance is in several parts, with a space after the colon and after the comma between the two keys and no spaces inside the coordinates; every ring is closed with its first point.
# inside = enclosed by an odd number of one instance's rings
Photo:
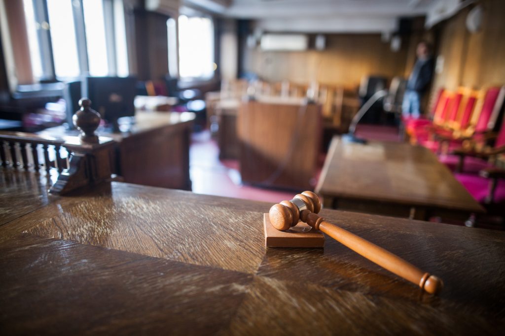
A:
{"type": "Polygon", "coordinates": [[[324,234],[305,223],[299,222],[287,231],[279,231],[270,224],[268,214],[263,214],[263,226],[267,247],[324,247],[324,234]]]}

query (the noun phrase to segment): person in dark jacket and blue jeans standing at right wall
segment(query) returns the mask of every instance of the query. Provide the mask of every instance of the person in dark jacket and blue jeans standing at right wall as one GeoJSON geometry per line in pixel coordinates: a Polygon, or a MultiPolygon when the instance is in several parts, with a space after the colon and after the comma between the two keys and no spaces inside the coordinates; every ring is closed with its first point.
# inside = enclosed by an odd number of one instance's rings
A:
{"type": "Polygon", "coordinates": [[[415,119],[419,118],[421,98],[428,88],[433,74],[433,57],[429,43],[421,41],[417,46],[416,54],[417,60],[407,82],[407,90],[401,105],[401,113],[404,118],[410,116],[415,119]]]}

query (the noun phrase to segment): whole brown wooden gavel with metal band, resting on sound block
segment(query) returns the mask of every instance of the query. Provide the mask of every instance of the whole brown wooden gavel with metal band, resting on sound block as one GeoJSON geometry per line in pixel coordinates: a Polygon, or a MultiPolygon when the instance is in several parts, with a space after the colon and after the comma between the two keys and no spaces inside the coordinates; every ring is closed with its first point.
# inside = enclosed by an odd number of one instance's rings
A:
{"type": "Polygon", "coordinates": [[[307,223],[389,272],[419,285],[422,290],[430,294],[437,294],[442,289],[443,282],[440,278],[421,271],[410,262],[366,239],[326,222],[316,215],[319,211],[321,211],[319,196],[312,191],[304,191],[295,195],[293,199],[283,200],[270,208],[269,218],[272,226],[281,231],[295,226],[298,221],[307,223]]]}

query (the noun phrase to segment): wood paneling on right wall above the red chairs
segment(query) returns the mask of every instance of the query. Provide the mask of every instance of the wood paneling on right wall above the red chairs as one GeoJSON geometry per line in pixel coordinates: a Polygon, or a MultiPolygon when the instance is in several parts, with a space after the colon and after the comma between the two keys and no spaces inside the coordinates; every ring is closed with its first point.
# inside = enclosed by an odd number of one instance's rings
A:
{"type": "Polygon", "coordinates": [[[482,0],[481,29],[470,33],[466,28],[469,9],[441,24],[437,54],[444,57],[443,72],[435,75],[432,92],[440,87],[456,90],[458,86],[485,88],[505,84],[505,2],[482,0]]]}

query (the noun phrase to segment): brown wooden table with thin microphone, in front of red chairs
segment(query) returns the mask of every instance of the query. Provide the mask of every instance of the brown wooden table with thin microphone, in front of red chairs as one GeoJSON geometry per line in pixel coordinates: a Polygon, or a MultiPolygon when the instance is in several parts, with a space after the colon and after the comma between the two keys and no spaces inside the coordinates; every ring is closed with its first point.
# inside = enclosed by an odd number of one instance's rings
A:
{"type": "Polygon", "coordinates": [[[466,220],[484,209],[428,149],[406,143],[345,143],[334,137],[316,186],[325,207],[466,220]]]}

